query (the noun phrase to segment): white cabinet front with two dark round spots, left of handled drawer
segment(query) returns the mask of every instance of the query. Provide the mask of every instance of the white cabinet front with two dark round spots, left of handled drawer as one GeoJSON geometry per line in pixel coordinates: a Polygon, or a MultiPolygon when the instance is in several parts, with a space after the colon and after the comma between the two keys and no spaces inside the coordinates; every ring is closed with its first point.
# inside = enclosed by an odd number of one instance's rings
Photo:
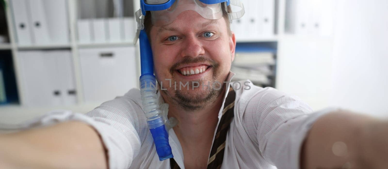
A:
{"type": "Polygon", "coordinates": [[[74,104],[74,76],[69,50],[19,51],[27,106],[74,104]]]}

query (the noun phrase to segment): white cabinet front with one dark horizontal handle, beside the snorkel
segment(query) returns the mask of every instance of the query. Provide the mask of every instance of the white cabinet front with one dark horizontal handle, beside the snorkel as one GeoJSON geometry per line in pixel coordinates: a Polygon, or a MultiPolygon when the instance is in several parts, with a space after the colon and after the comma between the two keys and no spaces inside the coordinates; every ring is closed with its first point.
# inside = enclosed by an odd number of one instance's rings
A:
{"type": "Polygon", "coordinates": [[[136,88],[135,47],[80,49],[85,102],[100,103],[136,88]]]}

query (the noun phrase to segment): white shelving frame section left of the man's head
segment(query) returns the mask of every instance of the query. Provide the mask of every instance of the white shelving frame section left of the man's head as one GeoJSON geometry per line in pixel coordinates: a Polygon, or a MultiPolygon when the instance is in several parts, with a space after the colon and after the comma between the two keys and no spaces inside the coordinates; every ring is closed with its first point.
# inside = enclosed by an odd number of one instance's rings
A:
{"type": "MultiPolygon", "coordinates": [[[[5,0],[7,3],[6,8],[6,16],[7,16],[7,26],[9,31],[9,44],[0,44],[0,50],[11,50],[12,52],[12,59],[14,60],[14,70],[16,73],[16,81],[17,81],[17,89],[18,89],[18,95],[19,95],[19,103],[12,103],[9,105],[0,105],[0,112],[7,112],[7,113],[16,113],[16,114],[23,114],[23,113],[29,113],[29,114],[43,114],[47,111],[54,110],[54,109],[68,109],[73,110],[74,112],[82,112],[85,113],[89,110],[94,109],[94,107],[97,107],[100,103],[85,103],[84,97],[83,97],[83,87],[81,82],[81,73],[80,73],[80,56],[78,53],[78,50],[81,48],[100,48],[100,47],[125,47],[125,46],[133,46],[132,41],[128,42],[118,42],[118,43],[87,43],[87,44],[80,44],[77,40],[77,20],[78,20],[78,1],[79,0],[67,0],[67,14],[68,14],[68,25],[69,25],[69,43],[66,44],[59,44],[59,45],[19,45],[17,43],[16,38],[16,32],[14,28],[14,18],[12,15],[12,8],[10,8],[10,1],[12,0],[5,0]],[[74,67],[74,79],[75,79],[75,85],[76,85],[76,96],[77,96],[77,103],[75,105],[59,105],[59,106],[48,106],[48,107],[28,107],[25,106],[25,89],[23,88],[23,83],[25,79],[21,78],[21,64],[18,53],[19,51],[24,50],[57,50],[57,49],[66,49],[71,51],[72,55],[72,61],[73,61],[73,67],[74,67]]],[[[132,1],[133,7],[137,9],[140,7],[139,2],[132,1]]],[[[133,25],[135,27],[135,25],[133,25]]],[[[137,46],[137,45],[135,45],[137,46]]],[[[138,51],[133,53],[133,55],[137,55],[138,51]]],[[[138,58],[138,57],[136,57],[138,58]]],[[[136,60],[137,63],[140,63],[140,59],[138,58],[136,60]]],[[[134,71],[137,72],[137,74],[140,74],[140,64],[139,67],[135,67],[134,71]]],[[[137,80],[137,79],[134,79],[137,80]]],[[[124,94],[124,93],[123,93],[124,94]]]]}

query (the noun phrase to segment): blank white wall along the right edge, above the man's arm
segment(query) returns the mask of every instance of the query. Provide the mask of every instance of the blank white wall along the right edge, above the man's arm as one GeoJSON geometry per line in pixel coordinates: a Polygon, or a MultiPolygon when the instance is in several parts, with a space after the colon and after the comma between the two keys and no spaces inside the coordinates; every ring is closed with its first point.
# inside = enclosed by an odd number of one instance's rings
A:
{"type": "Polygon", "coordinates": [[[341,0],[330,105],[388,115],[388,1],[341,0]]]}

